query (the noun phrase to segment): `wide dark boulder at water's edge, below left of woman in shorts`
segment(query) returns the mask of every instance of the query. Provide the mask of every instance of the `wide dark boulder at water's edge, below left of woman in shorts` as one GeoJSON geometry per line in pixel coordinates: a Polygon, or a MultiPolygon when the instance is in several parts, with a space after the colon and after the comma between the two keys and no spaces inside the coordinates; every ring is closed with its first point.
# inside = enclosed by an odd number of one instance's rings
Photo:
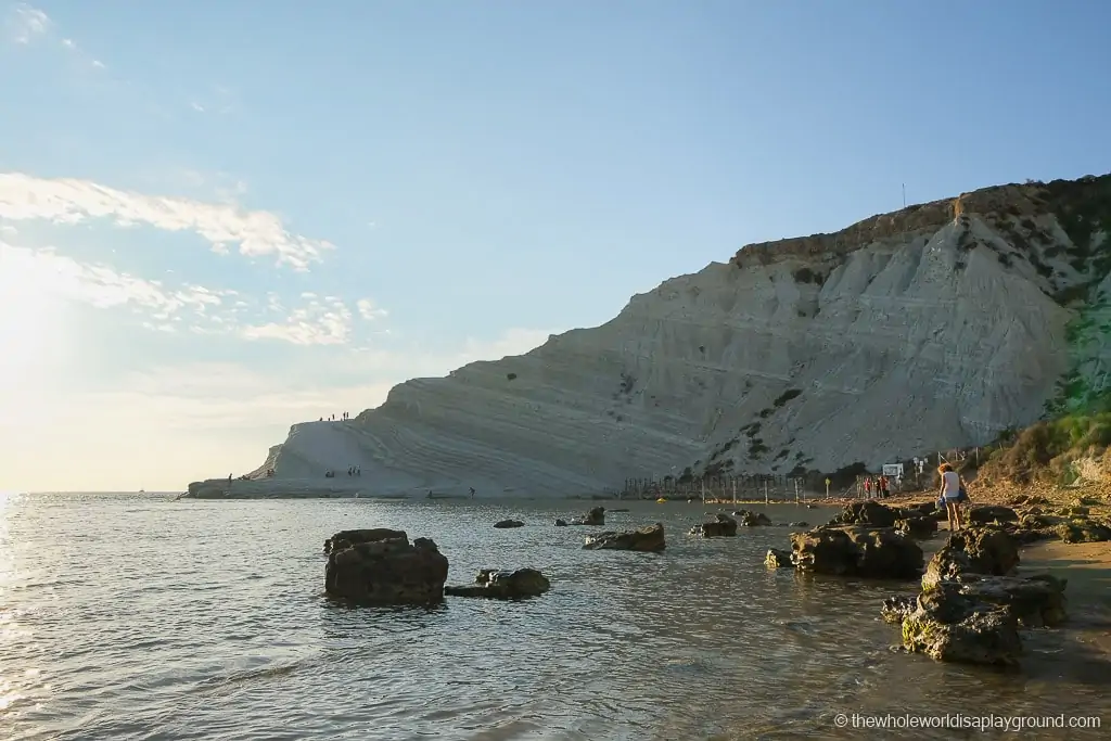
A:
{"type": "Polygon", "coordinates": [[[822,527],[791,534],[792,561],[803,571],[874,579],[913,579],[924,557],[891,528],[822,527]]]}

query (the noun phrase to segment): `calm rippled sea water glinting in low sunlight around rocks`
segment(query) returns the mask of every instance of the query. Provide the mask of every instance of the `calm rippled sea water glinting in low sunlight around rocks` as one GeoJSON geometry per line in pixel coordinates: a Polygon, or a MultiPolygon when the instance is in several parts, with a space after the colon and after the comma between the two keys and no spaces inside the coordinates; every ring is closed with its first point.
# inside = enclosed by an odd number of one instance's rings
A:
{"type": "MultiPolygon", "coordinates": [[[[9,497],[0,735],[860,739],[883,734],[839,729],[839,713],[1102,712],[1107,738],[1111,672],[1074,631],[1035,635],[1018,675],[892,653],[897,633],[878,619],[891,585],[765,570],[785,528],[700,541],[682,533],[701,504],[631,507],[608,524],[663,521],[667,552],[581,550],[584,529],[551,525],[585,509],[574,503],[9,497]],[[490,527],[506,517],[528,527],[490,527]],[[432,610],[333,604],[322,594],[324,538],[377,525],[433,538],[450,582],[528,565],[553,590],[432,610]]],[[[767,511],[783,522],[828,517],[767,511]]]]}

